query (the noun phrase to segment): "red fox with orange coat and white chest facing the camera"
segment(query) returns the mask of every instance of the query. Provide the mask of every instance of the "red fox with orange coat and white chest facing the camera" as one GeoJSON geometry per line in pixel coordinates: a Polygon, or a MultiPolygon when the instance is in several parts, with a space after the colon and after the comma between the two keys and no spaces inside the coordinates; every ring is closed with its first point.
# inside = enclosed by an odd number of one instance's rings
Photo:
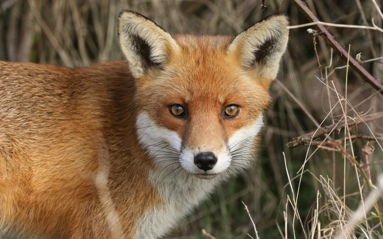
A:
{"type": "Polygon", "coordinates": [[[125,10],[127,62],[0,62],[0,237],[164,236],[250,166],[287,26],[170,35],[125,10]]]}

